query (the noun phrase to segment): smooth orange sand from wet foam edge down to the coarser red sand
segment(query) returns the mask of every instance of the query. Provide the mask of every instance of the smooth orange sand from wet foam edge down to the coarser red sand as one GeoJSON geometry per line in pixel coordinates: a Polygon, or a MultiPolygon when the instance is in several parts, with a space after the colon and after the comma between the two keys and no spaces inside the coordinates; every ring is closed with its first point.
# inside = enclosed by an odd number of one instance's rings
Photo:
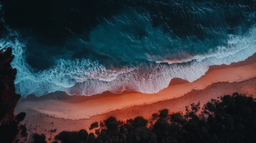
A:
{"type": "Polygon", "coordinates": [[[105,91],[93,96],[68,96],[64,92],[54,92],[46,96],[22,98],[15,108],[16,112],[33,109],[52,117],[66,120],[81,120],[114,110],[132,106],[143,106],[184,96],[192,90],[201,90],[214,83],[234,83],[256,77],[256,54],[245,61],[230,65],[216,65],[194,82],[182,79],[171,80],[169,86],[157,93],[141,93],[125,90],[122,93],[105,91]]]}

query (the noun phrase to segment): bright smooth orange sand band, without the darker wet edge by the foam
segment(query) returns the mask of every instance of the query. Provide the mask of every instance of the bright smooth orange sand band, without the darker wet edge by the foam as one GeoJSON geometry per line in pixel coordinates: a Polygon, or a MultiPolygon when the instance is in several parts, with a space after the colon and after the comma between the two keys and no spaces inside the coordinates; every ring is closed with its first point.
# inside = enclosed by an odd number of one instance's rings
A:
{"type": "MultiPolygon", "coordinates": [[[[241,82],[256,77],[256,63],[239,67],[229,67],[213,70],[206,76],[192,83],[170,85],[157,93],[124,92],[122,94],[108,94],[96,99],[84,102],[65,102],[62,100],[26,101],[17,105],[19,111],[33,109],[54,117],[70,120],[90,118],[97,114],[103,114],[116,109],[131,107],[134,105],[152,104],[159,101],[179,98],[191,90],[204,89],[206,86],[217,82],[241,82]],[[19,107],[19,105],[22,105],[19,107]],[[67,108],[65,108],[67,107],[67,108]]],[[[75,100],[75,99],[73,99],[75,100]]]]}

